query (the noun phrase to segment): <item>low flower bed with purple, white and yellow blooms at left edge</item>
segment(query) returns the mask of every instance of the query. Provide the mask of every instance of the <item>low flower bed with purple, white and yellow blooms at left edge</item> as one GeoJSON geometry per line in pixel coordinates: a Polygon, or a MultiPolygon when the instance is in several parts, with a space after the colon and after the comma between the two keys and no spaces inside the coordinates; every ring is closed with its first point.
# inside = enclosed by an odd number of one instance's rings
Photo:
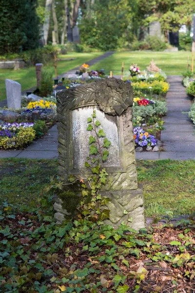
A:
{"type": "Polygon", "coordinates": [[[0,124],[0,148],[23,148],[36,137],[33,123],[0,124]]]}

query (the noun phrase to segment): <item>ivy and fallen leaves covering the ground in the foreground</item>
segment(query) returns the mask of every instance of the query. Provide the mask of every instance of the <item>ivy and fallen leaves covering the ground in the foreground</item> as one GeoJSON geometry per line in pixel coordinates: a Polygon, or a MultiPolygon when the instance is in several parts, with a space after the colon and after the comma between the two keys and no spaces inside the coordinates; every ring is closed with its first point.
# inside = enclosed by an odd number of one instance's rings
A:
{"type": "Polygon", "coordinates": [[[56,225],[52,198],[0,212],[0,292],[195,290],[195,226],[117,230],[84,217],[56,225]]]}

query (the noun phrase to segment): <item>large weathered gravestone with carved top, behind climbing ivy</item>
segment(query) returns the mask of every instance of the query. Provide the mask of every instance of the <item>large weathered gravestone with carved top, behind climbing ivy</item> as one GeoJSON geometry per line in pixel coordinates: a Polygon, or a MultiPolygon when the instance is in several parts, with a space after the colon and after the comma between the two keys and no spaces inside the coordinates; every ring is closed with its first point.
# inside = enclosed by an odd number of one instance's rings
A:
{"type": "MultiPolygon", "coordinates": [[[[84,167],[89,156],[87,118],[96,109],[98,121],[111,142],[108,160],[104,164],[109,174],[100,192],[109,197],[110,218],[105,224],[117,227],[128,222],[134,229],[143,228],[144,208],[142,188],[137,186],[137,169],[132,124],[133,91],[131,84],[115,78],[69,88],[57,94],[59,119],[59,175],[65,182],[69,175],[87,178],[90,170],[84,167]],[[124,211],[126,212],[124,213],[124,211]]],[[[77,198],[80,196],[79,192],[77,198]]],[[[71,210],[76,198],[56,196],[55,218],[61,223],[75,214],[71,210]]]]}

